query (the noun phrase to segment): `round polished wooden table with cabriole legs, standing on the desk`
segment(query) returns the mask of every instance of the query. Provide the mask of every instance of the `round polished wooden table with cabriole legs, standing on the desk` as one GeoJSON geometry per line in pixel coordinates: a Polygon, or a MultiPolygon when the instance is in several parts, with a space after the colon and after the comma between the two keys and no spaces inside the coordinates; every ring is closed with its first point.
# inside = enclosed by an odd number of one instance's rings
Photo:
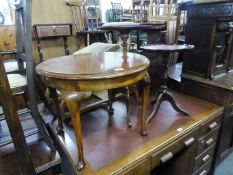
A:
{"type": "MultiPolygon", "coordinates": [[[[141,134],[147,135],[145,119],[148,113],[150,79],[147,73],[149,60],[142,55],[121,52],[89,53],[52,58],[40,63],[36,72],[49,87],[65,91],[94,91],[128,86],[144,81],[143,106],[140,116],[141,134]]],[[[78,101],[72,96],[63,96],[71,112],[78,150],[77,168],[85,166],[78,101]]]]}

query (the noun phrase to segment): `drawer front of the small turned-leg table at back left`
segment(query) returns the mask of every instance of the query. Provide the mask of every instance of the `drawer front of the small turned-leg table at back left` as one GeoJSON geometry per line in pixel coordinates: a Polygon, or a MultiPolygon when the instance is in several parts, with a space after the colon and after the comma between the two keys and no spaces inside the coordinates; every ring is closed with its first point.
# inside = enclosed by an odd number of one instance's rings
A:
{"type": "Polygon", "coordinates": [[[51,36],[69,36],[71,35],[69,25],[59,26],[37,26],[37,34],[39,38],[51,36]]]}

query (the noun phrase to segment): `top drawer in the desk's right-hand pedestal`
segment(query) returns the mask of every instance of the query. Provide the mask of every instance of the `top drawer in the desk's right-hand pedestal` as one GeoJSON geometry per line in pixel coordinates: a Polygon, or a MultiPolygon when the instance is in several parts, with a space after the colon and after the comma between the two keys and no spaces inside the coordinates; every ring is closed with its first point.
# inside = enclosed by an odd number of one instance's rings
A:
{"type": "Polygon", "coordinates": [[[201,126],[201,132],[200,132],[201,136],[204,136],[209,132],[213,131],[215,128],[220,127],[221,119],[222,119],[222,115],[219,115],[211,119],[210,121],[206,122],[205,124],[203,124],[201,126]]]}

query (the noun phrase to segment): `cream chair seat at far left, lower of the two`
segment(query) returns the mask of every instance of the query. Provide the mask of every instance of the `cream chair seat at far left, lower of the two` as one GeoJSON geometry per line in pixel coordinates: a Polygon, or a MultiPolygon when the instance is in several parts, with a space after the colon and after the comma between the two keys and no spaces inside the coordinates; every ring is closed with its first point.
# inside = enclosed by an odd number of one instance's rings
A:
{"type": "Polygon", "coordinates": [[[12,94],[21,94],[27,86],[27,78],[21,74],[8,74],[7,75],[12,94]]]}

